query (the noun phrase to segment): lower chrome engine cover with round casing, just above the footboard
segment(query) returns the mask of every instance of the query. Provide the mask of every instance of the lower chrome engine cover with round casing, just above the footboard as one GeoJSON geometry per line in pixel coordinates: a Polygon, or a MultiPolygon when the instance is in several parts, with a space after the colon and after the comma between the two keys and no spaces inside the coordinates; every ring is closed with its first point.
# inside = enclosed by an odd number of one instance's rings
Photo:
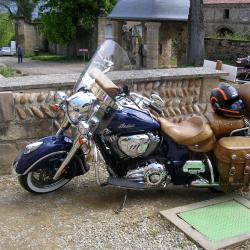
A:
{"type": "Polygon", "coordinates": [[[164,165],[156,161],[147,163],[145,167],[128,171],[125,178],[145,184],[149,188],[164,187],[171,182],[171,177],[168,175],[164,165]]]}

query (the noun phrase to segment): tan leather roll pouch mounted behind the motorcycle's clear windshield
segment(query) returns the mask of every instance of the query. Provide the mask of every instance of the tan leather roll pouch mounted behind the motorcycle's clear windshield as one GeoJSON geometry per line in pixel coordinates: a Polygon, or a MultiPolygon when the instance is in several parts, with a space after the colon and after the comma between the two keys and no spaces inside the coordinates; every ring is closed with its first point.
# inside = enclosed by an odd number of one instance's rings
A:
{"type": "Polygon", "coordinates": [[[120,88],[115,85],[102,71],[97,68],[90,70],[89,75],[95,79],[96,83],[110,96],[115,97],[120,88]]]}

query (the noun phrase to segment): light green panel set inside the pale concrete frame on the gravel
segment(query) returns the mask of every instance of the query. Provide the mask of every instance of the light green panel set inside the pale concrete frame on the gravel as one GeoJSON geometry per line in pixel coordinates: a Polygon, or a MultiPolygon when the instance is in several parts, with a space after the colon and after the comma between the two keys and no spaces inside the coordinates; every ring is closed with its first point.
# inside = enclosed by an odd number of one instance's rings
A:
{"type": "Polygon", "coordinates": [[[250,209],[237,201],[227,201],[178,214],[211,241],[250,233],[250,209]]]}

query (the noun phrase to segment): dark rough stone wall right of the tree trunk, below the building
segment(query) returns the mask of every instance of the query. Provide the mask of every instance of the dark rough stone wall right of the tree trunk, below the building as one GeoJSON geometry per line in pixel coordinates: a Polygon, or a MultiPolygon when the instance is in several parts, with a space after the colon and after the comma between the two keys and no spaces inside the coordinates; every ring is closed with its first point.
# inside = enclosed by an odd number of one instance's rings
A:
{"type": "Polygon", "coordinates": [[[205,58],[209,60],[236,60],[250,52],[250,41],[205,39],[205,58]]]}

